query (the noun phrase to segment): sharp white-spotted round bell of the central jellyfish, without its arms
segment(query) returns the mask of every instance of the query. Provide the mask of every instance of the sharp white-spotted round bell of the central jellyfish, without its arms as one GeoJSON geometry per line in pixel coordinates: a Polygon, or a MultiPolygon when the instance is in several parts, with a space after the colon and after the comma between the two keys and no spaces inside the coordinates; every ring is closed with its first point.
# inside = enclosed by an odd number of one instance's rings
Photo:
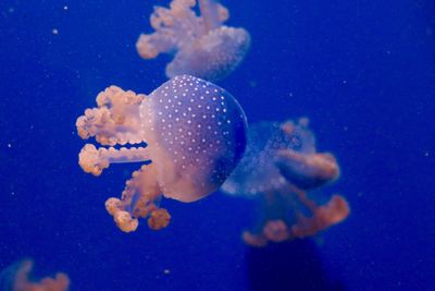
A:
{"type": "Polygon", "coordinates": [[[212,83],[177,76],[147,100],[142,132],[154,145],[164,195],[194,202],[219,189],[246,147],[246,117],[236,99],[212,83]]]}

